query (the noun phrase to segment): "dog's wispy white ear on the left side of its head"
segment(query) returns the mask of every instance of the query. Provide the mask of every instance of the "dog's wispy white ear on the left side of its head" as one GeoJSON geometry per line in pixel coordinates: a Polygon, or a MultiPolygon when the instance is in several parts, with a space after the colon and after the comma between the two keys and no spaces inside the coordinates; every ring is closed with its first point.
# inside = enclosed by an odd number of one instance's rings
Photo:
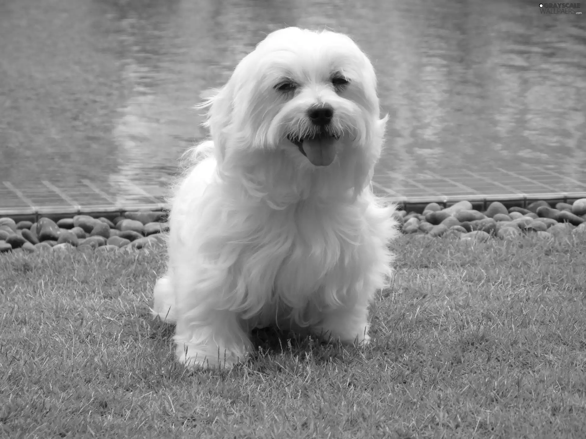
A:
{"type": "Polygon", "coordinates": [[[228,83],[220,89],[209,90],[202,94],[204,101],[196,107],[207,108],[206,121],[203,125],[209,128],[212,135],[218,163],[222,163],[226,157],[227,133],[230,131],[231,116],[234,111],[231,96],[230,83],[228,83]]]}

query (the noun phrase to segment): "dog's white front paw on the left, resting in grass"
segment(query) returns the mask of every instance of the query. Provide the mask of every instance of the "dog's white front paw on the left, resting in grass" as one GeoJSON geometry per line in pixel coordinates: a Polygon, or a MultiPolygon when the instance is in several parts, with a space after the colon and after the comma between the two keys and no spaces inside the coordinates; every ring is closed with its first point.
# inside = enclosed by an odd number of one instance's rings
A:
{"type": "Polygon", "coordinates": [[[217,347],[197,347],[191,344],[178,344],[175,355],[177,361],[188,369],[224,369],[231,368],[246,359],[246,352],[232,352],[217,347]]]}

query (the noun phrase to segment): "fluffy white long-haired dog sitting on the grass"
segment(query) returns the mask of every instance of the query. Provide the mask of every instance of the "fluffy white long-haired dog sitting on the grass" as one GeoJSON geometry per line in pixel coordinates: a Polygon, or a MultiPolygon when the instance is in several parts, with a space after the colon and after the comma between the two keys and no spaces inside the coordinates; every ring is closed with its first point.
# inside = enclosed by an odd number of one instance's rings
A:
{"type": "Polygon", "coordinates": [[[347,36],[268,35],[205,102],[212,140],[174,190],[152,312],[188,366],[231,366],[254,327],[369,342],[393,273],[394,206],[370,186],[387,118],[347,36]]]}

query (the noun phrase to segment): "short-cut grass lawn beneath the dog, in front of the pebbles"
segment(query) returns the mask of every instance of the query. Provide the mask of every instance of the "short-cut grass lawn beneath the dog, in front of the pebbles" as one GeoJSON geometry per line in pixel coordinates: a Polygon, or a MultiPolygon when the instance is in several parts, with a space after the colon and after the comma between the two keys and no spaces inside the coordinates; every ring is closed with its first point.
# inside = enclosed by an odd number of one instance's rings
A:
{"type": "Polygon", "coordinates": [[[154,251],[0,255],[0,437],[584,438],[581,239],[403,236],[372,345],[259,331],[212,372],[150,318],[154,251]]]}

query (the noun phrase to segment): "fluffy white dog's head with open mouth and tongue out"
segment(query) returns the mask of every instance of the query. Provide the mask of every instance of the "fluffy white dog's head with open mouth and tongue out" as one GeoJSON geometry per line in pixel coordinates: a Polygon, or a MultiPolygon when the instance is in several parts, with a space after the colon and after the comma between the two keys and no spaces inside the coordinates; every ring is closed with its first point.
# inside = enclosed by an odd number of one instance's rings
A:
{"type": "Polygon", "coordinates": [[[374,69],[340,33],[271,33],[207,104],[220,167],[271,155],[298,174],[336,167],[362,189],[380,156],[386,118],[374,69]]]}

